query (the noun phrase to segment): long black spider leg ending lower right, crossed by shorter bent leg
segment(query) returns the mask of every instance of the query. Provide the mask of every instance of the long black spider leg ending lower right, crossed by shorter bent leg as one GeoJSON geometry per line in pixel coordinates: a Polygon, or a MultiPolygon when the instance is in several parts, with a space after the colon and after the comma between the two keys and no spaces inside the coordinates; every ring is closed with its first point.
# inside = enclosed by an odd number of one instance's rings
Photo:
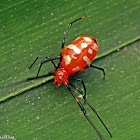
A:
{"type": "MultiPolygon", "coordinates": [[[[76,90],[78,90],[80,92],[80,94],[82,96],[84,96],[84,93],[79,89],[77,88],[75,85],[73,85],[72,83],[69,83],[72,87],[74,87],[76,90]]],[[[85,102],[88,104],[88,106],[93,110],[93,112],[97,115],[98,119],[101,121],[101,123],[103,124],[103,126],[105,127],[105,129],[107,130],[107,132],[109,133],[109,135],[112,137],[110,131],[108,130],[108,128],[106,127],[106,125],[104,124],[104,122],[102,121],[102,119],[100,118],[100,116],[98,115],[98,113],[96,112],[96,110],[88,103],[87,99],[84,99],[85,102]]]]}

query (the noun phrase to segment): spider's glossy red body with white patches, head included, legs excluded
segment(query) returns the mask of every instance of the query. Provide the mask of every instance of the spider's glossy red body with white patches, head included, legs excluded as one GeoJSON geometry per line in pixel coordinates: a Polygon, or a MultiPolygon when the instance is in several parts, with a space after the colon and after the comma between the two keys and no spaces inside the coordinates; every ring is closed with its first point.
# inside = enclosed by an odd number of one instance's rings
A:
{"type": "Polygon", "coordinates": [[[54,72],[54,83],[58,86],[63,82],[68,85],[69,75],[76,72],[82,72],[85,67],[90,65],[94,57],[97,55],[99,45],[97,41],[88,35],[78,37],[72,43],[62,49],[62,60],[60,62],[60,69],[54,72]]]}

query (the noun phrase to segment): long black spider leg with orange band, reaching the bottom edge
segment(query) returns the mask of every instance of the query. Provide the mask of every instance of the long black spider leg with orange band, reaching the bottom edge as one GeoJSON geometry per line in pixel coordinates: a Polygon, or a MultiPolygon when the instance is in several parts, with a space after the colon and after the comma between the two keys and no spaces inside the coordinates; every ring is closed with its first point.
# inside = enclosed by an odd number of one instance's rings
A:
{"type": "Polygon", "coordinates": [[[95,127],[95,125],[92,123],[92,121],[88,118],[86,110],[84,109],[82,103],[76,98],[76,96],[74,95],[74,93],[72,92],[72,90],[70,89],[69,86],[67,86],[68,90],[70,91],[71,95],[73,96],[73,98],[75,99],[75,101],[77,102],[77,104],[79,105],[79,107],[81,108],[84,116],[86,117],[86,119],[88,120],[88,122],[92,125],[92,127],[94,128],[94,130],[97,132],[98,136],[100,137],[101,140],[104,140],[103,136],[100,134],[100,132],[98,131],[98,129],[95,127]]]}

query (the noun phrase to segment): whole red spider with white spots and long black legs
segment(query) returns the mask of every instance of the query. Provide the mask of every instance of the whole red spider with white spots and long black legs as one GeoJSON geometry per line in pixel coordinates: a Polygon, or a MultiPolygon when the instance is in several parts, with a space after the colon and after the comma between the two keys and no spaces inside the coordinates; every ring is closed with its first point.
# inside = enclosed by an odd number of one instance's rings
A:
{"type": "Polygon", "coordinates": [[[70,91],[71,95],[74,97],[75,101],[77,102],[77,104],[81,108],[86,119],[89,121],[91,126],[95,129],[95,131],[99,135],[100,139],[104,140],[103,136],[100,134],[100,132],[95,127],[95,125],[92,123],[92,121],[87,116],[86,110],[84,109],[82,103],[77,99],[77,97],[75,96],[75,94],[72,92],[72,90],[70,88],[70,86],[71,86],[79,91],[79,93],[83,96],[85,103],[87,103],[88,106],[97,115],[99,120],[102,122],[102,124],[104,125],[104,127],[106,128],[106,130],[108,131],[110,136],[112,137],[111,133],[109,132],[109,130],[107,129],[107,127],[105,126],[105,124],[103,123],[101,118],[99,117],[96,110],[88,103],[88,101],[86,99],[86,87],[85,87],[83,80],[78,79],[78,78],[70,78],[70,75],[73,75],[73,74],[78,73],[78,72],[82,72],[88,67],[93,67],[93,68],[96,68],[96,69],[103,71],[103,74],[105,76],[105,71],[103,68],[99,68],[97,66],[91,65],[92,60],[97,55],[98,50],[99,50],[99,45],[93,37],[88,36],[88,35],[80,36],[75,41],[73,41],[72,43],[70,43],[69,45],[67,45],[64,48],[65,39],[69,33],[69,30],[70,30],[72,24],[77,22],[80,19],[83,19],[83,18],[85,18],[85,16],[83,16],[83,17],[81,17],[81,18],[79,18],[79,19],[77,19],[69,24],[68,30],[63,38],[63,41],[62,41],[60,56],[58,56],[56,58],[38,56],[35,59],[35,61],[32,63],[32,65],[29,67],[29,69],[33,66],[33,64],[37,61],[38,58],[46,58],[47,60],[41,62],[38,73],[37,73],[37,77],[29,78],[26,81],[33,80],[33,79],[39,79],[42,77],[47,77],[47,76],[53,75],[55,77],[53,84],[55,84],[55,83],[57,84],[55,86],[55,88],[60,86],[62,83],[67,87],[67,89],[70,91]],[[56,64],[54,63],[54,60],[57,60],[57,59],[60,59],[60,61],[59,61],[59,64],[56,66],[56,64]],[[48,73],[46,75],[43,75],[43,76],[38,76],[42,65],[46,62],[49,62],[49,61],[51,61],[52,64],[54,65],[55,71],[48,73]],[[84,92],[82,92],[74,84],[70,83],[68,81],[68,79],[80,81],[83,85],[84,92]]]}

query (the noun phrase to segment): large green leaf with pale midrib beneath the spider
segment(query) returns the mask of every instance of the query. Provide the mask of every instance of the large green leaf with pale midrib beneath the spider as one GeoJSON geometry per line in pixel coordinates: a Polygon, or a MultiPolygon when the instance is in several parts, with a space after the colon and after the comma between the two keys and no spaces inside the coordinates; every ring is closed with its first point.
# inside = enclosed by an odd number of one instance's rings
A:
{"type": "MultiPolygon", "coordinates": [[[[105,69],[106,78],[92,68],[74,77],[84,80],[87,100],[111,131],[112,140],[138,139],[139,4],[137,0],[2,0],[0,137],[99,139],[67,88],[54,89],[53,77],[11,85],[36,76],[42,60],[28,68],[37,56],[57,57],[68,24],[86,15],[73,24],[66,45],[81,35],[97,39],[100,51],[93,64],[105,69]]],[[[40,75],[51,71],[52,64],[44,64],[40,75]]],[[[73,84],[83,89],[79,82],[73,84]]],[[[84,103],[79,93],[73,92],[84,103]]],[[[84,107],[103,137],[111,139],[92,110],[84,107]]]]}

